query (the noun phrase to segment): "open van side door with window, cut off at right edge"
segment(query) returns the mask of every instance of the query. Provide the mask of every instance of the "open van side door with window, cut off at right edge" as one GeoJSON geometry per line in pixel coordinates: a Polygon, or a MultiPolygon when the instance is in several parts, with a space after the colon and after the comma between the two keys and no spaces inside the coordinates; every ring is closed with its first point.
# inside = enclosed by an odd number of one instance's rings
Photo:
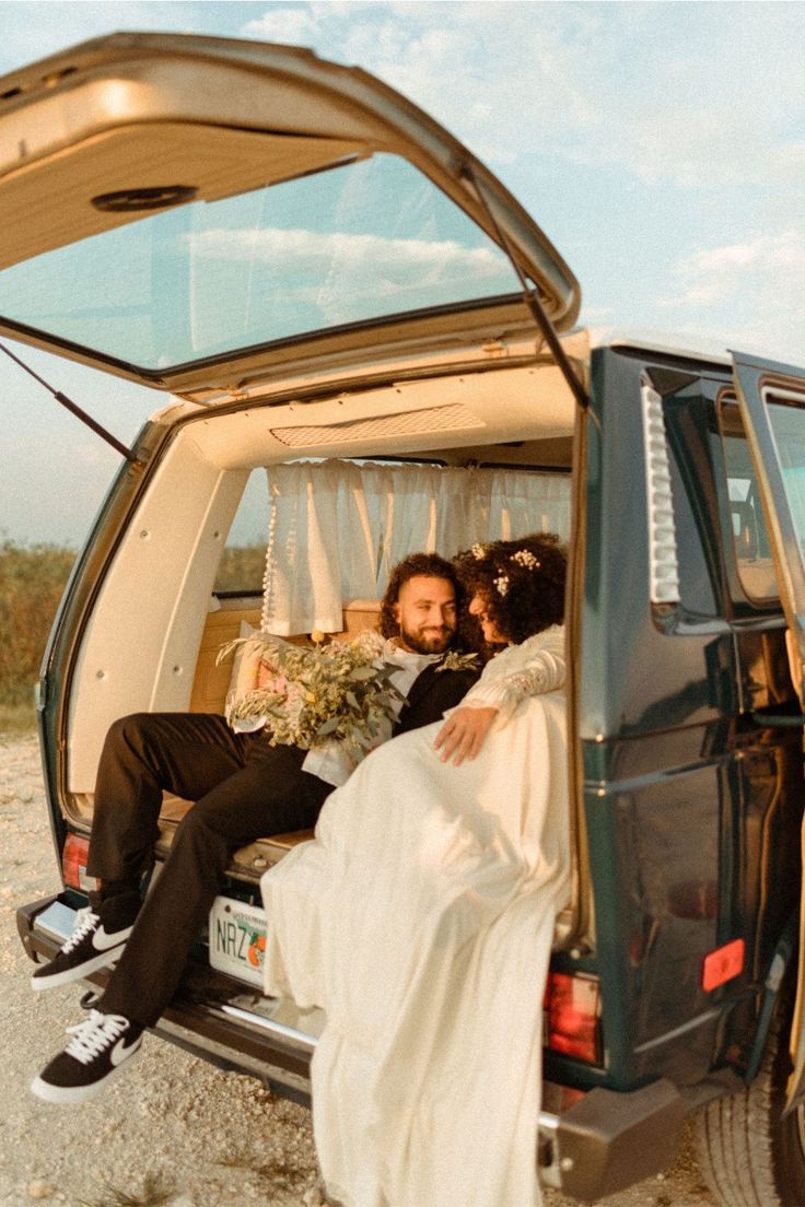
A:
{"type": "MultiPolygon", "coordinates": [[[[771,535],[775,570],[788,623],[794,686],[805,701],[805,369],[733,355],[746,425],[771,535]]],[[[804,794],[805,795],[805,794],[804,794]]],[[[805,816],[803,820],[805,867],[805,816]]],[[[799,974],[791,1032],[793,1072],[787,1106],[805,1094],[805,880],[800,897],[799,974]]]]}

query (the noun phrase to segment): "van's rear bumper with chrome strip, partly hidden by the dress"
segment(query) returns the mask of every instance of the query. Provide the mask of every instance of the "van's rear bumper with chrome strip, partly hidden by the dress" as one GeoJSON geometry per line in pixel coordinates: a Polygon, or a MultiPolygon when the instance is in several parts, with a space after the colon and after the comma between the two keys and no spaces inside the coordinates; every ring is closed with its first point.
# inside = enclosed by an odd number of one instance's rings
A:
{"type": "MultiPolygon", "coordinates": [[[[70,934],[75,909],[64,896],[17,911],[23,946],[51,960],[70,934]]],[[[107,972],[86,984],[103,989],[107,972]]],[[[249,1073],[272,1091],[310,1103],[309,1066],[323,1025],[321,1011],[297,1011],[250,991],[206,966],[188,969],[153,1033],[221,1068],[249,1073]]],[[[676,1155],[683,1107],[667,1080],[628,1094],[595,1089],[559,1109],[562,1088],[546,1083],[538,1119],[538,1165],[544,1184],[595,1202],[666,1168],[676,1155]],[[555,1107],[555,1109],[554,1109],[555,1107]]]]}

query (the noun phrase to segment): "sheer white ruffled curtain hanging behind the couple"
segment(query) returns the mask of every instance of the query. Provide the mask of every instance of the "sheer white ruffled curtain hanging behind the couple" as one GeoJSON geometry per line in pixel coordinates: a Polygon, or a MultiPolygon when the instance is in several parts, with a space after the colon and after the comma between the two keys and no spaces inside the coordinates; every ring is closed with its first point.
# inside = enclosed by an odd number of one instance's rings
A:
{"type": "Polygon", "coordinates": [[[349,600],[379,599],[414,550],[570,535],[570,478],[523,470],[297,462],[267,470],[270,523],[262,626],[338,632],[349,600]]]}

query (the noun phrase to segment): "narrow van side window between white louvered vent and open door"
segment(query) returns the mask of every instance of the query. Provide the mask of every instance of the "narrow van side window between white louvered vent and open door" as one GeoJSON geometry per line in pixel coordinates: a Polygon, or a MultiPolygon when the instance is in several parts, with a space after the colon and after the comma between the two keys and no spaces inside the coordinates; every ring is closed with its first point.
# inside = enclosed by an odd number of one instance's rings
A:
{"type": "MultiPolygon", "coordinates": [[[[775,599],[777,581],[771,560],[769,531],[737,403],[723,402],[719,407],[719,419],[739,581],[749,599],[775,599]]],[[[805,460],[800,460],[800,465],[805,465],[805,460]]],[[[805,525],[803,531],[805,532],[805,525]]]]}

